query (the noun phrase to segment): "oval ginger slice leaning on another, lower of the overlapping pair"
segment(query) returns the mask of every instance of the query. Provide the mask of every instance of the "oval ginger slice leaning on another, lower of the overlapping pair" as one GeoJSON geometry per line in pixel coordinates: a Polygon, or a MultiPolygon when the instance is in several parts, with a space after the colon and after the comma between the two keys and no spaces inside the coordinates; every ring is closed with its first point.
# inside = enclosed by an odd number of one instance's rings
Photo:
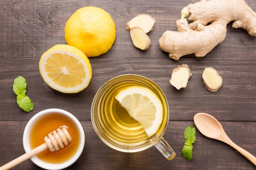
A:
{"type": "Polygon", "coordinates": [[[133,27],[130,29],[130,36],[132,38],[132,43],[135,47],[141,50],[147,50],[150,46],[150,38],[148,35],[143,31],[142,28],[133,27]]]}

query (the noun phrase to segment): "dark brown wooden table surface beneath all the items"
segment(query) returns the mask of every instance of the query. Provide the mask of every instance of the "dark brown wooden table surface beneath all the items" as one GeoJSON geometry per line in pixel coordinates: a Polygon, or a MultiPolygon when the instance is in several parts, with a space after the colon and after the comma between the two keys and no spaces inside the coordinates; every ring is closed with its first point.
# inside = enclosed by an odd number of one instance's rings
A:
{"type": "MultiPolygon", "coordinates": [[[[254,0],[245,0],[256,11],[254,0]]],[[[227,135],[238,146],[256,155],[256,37],[247,31],[227,26],[225,40],[203,58],[194,54],[175,61],[159,48],[159,38],[166,30],[176,31],[180,11],[197,0],[0,0],[0,165],[22,155],[22,135],[28,120],[39,111],[64,109],[81,122],[85,148],[81,157],[67,170],[253,170],[255,166],[234,148],[209,139],[196,129],[193,159],[182,157],[184,130],[194,126],[199,112],[216,117],[227,135]],[[55,44],[65,44],[64,26],[77,9],[96,6],[106,10],[116,24],[112,48],[99,57],[91,57],[90,85],[78,94],[63,94],[51,89],[40,76],[40,56],[55,44]],[[147,13],[155,18],[148,33],[151,45],[142,51],[132,44],[126,23],[147,13]],[[177,65],[187,64],[193,74],[186,88],[177,90],[170,83],[177,65]],[[213,67],[222,76],[223,85],[216,93],[203,84],[202,72],[213,67]],[[104,144],[95,133],[90,109],[92,99],[103,83],[121,74],[139,74],[155,81],[164,91],[170,107],[164,134],[177,156],[167,161],[153,146],[139,153],[121,153],[104,144]],[[34,110],[27,113],[16,103],[13,80],[27,80],[27,96],[34,110]]],[[[193,42],[192,42],[193,43],[193,42]]],[[[14,169],[39,170],[27,160],[14,169]]]]}

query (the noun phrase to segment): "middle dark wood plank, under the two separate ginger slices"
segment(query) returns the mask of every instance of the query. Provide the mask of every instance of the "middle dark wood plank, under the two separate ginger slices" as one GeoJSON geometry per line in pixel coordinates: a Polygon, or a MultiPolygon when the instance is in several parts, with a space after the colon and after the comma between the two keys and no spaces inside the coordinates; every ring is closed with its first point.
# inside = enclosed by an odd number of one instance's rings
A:
{"type": "MultiPolygon", "coordinates": [[[[36,63],[37,59],[31,59],[36,63]]],[[[34,68],[13,68],[1,76],[3,102],[1,119],[28,120],[32,115],[43,109],[57,107],[71,111],[81,120],[90,120],[90,105],[97,90],[110,78],[121,74],[139,74],[155,81],[164,91],[170,107],[170,120],[193,120],[193,114],[207,112],[217,116],[220,120],[241,120],[255,121],[255,77],[256,58],[238,59],[238,63],[230,62],[222,65],[222,61],[209,58],[184,59],[175,65],[170,65],[168,58],[162,59],[127,59],[120,58],[112,60],[112,67],[109,67],[110,58],[99,57],[90,59],[93,70],[93,77],[88,88],[79,94],[62,94],[52,90],[40,77],[39,71],[34,68]],[[172,69],[182,63],[191,66],[192,76],[185,89],[177,90],[169,83],[172,69]],[[200,63],[198,63],[200,62],[200,63]],[[248,64],[247,64],[248,63],[248,64]],[[245,64],[246,66],[243,66],[245,64]],[[221,66],[222,65],[222,66],[221,66]],[[143,69],[141,69],[141,66],[143,69]],[[212,66],[219,71],[223,78],[223,85],[216,93],[209,92],[202,83],[202,72],[206,66],[212,66]],[[13,73],[16,72],[16,73],[13,73]],[[34,111],[24,113],[16,104],[16,96],[12,90],[13,80],[21,74],[27,79],[27,95],[34,102],[34,111]],[[33,90],[36,89],[36,90],[33,90]],[[49,102],[51,101],[51,102],[49,102]],[[76,107],[79,105],[80,107],[76,107]]],[[[5,61],[7,65],[15,65],[16,61],[5,61]]],[[[20,61],[26,65],[26,61],[20,61]]],[[[30,65],[30,64],[27,64],[30,65]]],[[[8,66],[3,65],[3,69],[8,66]]]]}

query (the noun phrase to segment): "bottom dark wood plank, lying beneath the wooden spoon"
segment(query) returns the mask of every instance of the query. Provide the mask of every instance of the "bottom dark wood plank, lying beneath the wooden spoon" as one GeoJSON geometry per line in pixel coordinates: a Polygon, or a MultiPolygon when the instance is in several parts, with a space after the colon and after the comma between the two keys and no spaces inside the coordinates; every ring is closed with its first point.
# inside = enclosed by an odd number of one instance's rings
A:
{"type": "MultiPolygon", "coordinates": [[[[22,134],[26,121],[0,121],[0,165],[7,163],[24,153],[22,134]],[[6,135],[8,134],[8,135],[6,135]],[[15,152],[13,152],[15,150],[15,152]]],[[[195,126],[192,121],[169,121],[164,134],[166,141],[172,146],[177,156],[167,161],[153,146],[139,153],[121,153],[109,148],[94,132],[90,121],[81,121],[85,131],[85,148],[81,157],[67,169],[239,169],[253,170],[255,166],[233,148],[223,142],[204,137],[196,130],[193,144],[193,159],[187,161],[182,157],[184,130],[187,126],[195,126]]],[[[255,144],[256,122],[221,122],[227,135],[240,147],[256,155],[255,144]],[[252,135],[253,134],[253,135],[252,135]]],[[[40,169],[30,160],[16,166],[16,170],[40,169]]]]}

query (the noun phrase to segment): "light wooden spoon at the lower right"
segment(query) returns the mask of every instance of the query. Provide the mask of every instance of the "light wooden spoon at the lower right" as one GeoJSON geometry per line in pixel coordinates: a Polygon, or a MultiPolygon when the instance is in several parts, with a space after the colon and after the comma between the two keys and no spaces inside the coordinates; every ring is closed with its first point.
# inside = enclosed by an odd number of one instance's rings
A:
{"type": "Polygon", "coordinates": [[[229,144],[256,166],[256,157],[232,142],[216,118],[207,113],[197,113],[194,116],[194,122],[204,136],[229,144]]]}

